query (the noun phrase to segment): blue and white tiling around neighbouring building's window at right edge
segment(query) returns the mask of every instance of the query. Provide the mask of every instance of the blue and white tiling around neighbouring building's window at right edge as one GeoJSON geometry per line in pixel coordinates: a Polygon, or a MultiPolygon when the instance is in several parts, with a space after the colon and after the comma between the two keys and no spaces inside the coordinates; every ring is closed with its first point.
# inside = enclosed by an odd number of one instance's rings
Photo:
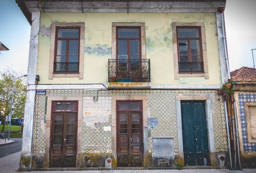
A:
{"type": "Polygon", "coordinates": [[[245,152],[256,152],[256,143],[248,142],[248,132],[246,124],[246,112],[245,112],[245,103],[246,102],[256,102],[256,93],[239,93],[238,94],[239,102],[239,115],[241,121],[241,132],[243,136],[243,148],[245,152]]]}

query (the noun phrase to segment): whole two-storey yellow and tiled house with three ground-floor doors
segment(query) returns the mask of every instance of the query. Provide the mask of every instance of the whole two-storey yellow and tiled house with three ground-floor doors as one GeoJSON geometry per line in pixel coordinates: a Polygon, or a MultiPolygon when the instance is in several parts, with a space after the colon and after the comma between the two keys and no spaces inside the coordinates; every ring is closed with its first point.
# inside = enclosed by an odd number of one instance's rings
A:
{"type": "Polygon", "coordinates": [[[21,169],[228,166],[225,0],[16,1],[31,22],[21,169]]]}

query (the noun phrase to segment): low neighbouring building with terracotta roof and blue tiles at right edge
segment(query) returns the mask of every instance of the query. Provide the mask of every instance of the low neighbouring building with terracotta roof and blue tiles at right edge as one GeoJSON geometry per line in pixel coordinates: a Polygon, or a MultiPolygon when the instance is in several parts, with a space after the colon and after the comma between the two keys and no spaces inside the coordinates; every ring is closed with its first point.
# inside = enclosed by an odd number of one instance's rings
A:
{"type": "Polygon", "coordinates": [[[241,67],[231,72],[238,122],[242,168],[255,168],[256,160],[256,69],[241,67]]]}

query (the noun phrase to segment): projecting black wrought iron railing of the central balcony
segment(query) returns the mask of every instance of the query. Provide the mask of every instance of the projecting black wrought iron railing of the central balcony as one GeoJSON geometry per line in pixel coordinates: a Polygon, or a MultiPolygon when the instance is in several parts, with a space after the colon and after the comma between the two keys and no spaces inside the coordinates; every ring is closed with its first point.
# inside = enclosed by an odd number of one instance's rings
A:
{"type": "Polygon", "coordinates": [[[109,59],[108,82],[150,82],[150,59],[109,59]]]}

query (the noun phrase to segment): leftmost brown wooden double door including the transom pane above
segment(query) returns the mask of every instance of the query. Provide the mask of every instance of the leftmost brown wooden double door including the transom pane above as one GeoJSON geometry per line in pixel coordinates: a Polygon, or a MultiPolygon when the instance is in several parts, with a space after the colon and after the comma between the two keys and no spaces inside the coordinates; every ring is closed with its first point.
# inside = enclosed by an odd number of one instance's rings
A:
{"type": "Polygon", "coordinates": [[[75,167],[77,155],[77,102],[53,102],[51,167],[75,167]]]}

